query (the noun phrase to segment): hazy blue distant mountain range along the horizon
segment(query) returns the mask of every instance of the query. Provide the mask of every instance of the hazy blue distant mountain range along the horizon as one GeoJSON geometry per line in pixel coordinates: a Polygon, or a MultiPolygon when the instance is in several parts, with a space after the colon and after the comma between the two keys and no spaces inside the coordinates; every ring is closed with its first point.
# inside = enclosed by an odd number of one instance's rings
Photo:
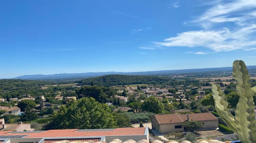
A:
{"type": "MultiPolygon", "coordinates": [[[[256,69],[256,66],[247,66],[248,70],[256,69]]],[[[197,69],[178,69],[178,70],[158,70],[148,72],[95,72],[95,73],[77,73],[77,74],[54,74],[54,75],[24,75],[15,77],[14,79],[63,79],[63,78],[90,78],[104,75],[173,75],[173,74],[193,74],[207,72],[231,71],[232,67],[217,68],[197,68],[197,69]]]]}

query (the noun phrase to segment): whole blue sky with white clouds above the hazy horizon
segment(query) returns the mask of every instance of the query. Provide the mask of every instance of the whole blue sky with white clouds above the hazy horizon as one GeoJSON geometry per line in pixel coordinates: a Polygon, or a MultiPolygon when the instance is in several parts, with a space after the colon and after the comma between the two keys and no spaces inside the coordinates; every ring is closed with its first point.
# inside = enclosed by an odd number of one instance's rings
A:
{"type": "Polygon", "coordinates": [[[0,77],[256,65],[256,0],[0,0],[0,77]]]}

